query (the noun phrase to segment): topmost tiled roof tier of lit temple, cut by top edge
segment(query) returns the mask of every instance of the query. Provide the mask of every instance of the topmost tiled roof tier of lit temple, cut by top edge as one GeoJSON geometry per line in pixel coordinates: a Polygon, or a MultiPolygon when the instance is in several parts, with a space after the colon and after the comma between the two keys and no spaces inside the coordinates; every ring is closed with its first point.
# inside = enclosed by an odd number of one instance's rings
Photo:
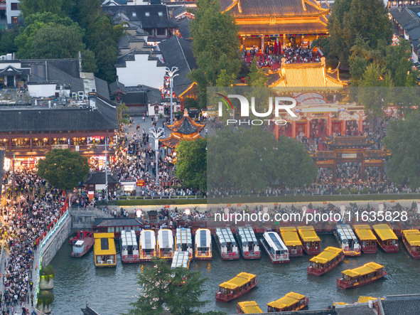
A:
{"type": "Polygon", "coordinates": [[[322,16],[330,12],[316,0],[220,0],[220,7],[235,18],[322,16]]]}

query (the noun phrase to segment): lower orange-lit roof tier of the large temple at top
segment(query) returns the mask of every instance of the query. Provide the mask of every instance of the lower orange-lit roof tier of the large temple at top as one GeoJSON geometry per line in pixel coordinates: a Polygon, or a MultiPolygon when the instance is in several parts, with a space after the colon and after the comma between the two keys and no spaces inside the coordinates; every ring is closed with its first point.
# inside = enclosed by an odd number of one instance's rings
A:
{"type": "MultiPolygon", "coordinates": [[[[326,18],[309,20],[301,23],[284,21],[279,24],[239,24],[240,35],[281,35],[281,34],[306,34],[306,33],[328,33],[326,18]]],[[[181,28],[180,28],[181,31],[181,28]]]]}

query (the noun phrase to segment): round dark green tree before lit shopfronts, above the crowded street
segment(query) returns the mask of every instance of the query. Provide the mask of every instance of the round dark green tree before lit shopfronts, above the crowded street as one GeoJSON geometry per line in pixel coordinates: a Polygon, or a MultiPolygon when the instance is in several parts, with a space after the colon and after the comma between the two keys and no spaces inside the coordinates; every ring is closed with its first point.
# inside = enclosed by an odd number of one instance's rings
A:
{"type": "Polygon", "coordinates": [[[85,156],[70,149],[53,149],[38,161],[38,176],[45,178],[51,186],[70,190],[84,181],[90,171],[85,156]]]}

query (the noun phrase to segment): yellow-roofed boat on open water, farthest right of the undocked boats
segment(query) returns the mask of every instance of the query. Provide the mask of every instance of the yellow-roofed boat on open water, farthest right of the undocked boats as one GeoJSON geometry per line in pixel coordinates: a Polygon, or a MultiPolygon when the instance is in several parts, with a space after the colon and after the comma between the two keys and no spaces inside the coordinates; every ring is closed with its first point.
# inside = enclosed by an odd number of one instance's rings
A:
{"type": "Polygon", "coordinates": [[[341,274],[342,277],[337,278],[337,286],[343,289],[350,289],[375,282],[388,273],[384,270],[384,266],[376,262],[368,262],[362,267],[348,269],[341,272],[341,274]]]}

